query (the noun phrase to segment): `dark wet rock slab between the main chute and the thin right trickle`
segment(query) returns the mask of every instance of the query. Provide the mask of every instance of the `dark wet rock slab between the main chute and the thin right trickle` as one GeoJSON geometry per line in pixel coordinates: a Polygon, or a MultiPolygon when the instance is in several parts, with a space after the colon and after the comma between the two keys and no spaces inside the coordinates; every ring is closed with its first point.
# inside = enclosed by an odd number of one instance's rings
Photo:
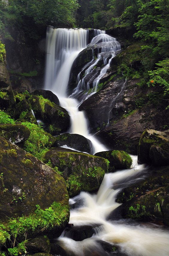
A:
{"type": "Polygon", "coordinates": [[[125,80],[109,82],[103,89],[96,92],[80,105],[79,110],[85,111],[90,123],[91,132],[103,129],[104,126],[107,126],[109,120],[112,119],[112,109],[116,102],[122,99],[122,87],[124,86],[125,88],[125,84],[125,80]]]}

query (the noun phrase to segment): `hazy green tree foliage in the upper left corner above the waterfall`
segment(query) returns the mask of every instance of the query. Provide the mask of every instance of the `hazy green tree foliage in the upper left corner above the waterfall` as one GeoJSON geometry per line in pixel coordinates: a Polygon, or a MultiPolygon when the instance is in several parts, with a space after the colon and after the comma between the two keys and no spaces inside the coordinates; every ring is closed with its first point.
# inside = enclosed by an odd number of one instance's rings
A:
{"type": "Polygon", "coordinates": [[[22,28],[30,38],[37,40],[48,25],[73,25],[78,7],[77,0],[9,0],[8,5],[5,1],[0,1],[0,32],[4,32],[3,24],[15,25],[22,28]]]}

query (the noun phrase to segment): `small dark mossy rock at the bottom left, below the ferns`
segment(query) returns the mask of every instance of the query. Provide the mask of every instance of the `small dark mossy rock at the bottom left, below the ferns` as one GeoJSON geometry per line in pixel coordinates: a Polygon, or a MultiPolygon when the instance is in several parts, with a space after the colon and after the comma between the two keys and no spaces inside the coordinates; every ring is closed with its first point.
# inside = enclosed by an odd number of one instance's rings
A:
{"type": "Polygon", "coordinates": [[[25,243],[26,250],[30,253],[50,253],[50,240],[47,236],[40,236],[25,243]]]}

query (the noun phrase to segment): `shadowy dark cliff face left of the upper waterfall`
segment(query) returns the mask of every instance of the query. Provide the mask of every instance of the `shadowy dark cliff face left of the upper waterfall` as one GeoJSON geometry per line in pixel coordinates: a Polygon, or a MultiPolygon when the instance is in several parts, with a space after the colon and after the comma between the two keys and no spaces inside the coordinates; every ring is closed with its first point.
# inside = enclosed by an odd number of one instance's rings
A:
{"type": "Polygon", "coordinates": [[[44,72],[45,55],[38,45],[35,47],[34,42],[25,35],[22,29],[8,27],[7,32],[14,39],[2,39],[7,52],[7,69],[10,71],[26,72],[37,71],[38,75],[44,72]]]}

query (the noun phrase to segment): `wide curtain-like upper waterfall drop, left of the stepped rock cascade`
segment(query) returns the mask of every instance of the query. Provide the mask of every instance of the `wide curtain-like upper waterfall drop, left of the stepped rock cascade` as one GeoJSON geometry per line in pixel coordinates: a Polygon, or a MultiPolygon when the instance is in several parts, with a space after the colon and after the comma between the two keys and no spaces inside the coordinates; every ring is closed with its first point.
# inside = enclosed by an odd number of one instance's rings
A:
{"type": "Polygon", "coordinates": [[[87,30],[48,27],[46,35],[45,89],[63,97],[73,61],[87,46],[87,30]]]}

